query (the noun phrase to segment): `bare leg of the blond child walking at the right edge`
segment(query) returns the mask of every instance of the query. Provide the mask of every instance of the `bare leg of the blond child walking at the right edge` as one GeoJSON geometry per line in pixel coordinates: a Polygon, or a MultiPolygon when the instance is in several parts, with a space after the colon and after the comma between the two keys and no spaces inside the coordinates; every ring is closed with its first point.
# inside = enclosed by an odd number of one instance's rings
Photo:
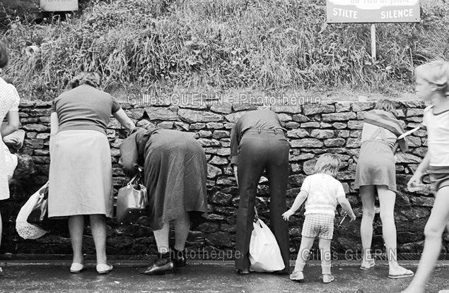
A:
{"type": "Polygon", "coordinates": [[[421,254],[418,270],[416,270],[415,277],[404,292],[424,292],[428,277],[430,277],[440,255],[441,237],[449,222],[448,206],[449,186],[445,186],[436,193],[431,215],[424,229],[426,241],[424,242],[424,250],[421,254]]]}

